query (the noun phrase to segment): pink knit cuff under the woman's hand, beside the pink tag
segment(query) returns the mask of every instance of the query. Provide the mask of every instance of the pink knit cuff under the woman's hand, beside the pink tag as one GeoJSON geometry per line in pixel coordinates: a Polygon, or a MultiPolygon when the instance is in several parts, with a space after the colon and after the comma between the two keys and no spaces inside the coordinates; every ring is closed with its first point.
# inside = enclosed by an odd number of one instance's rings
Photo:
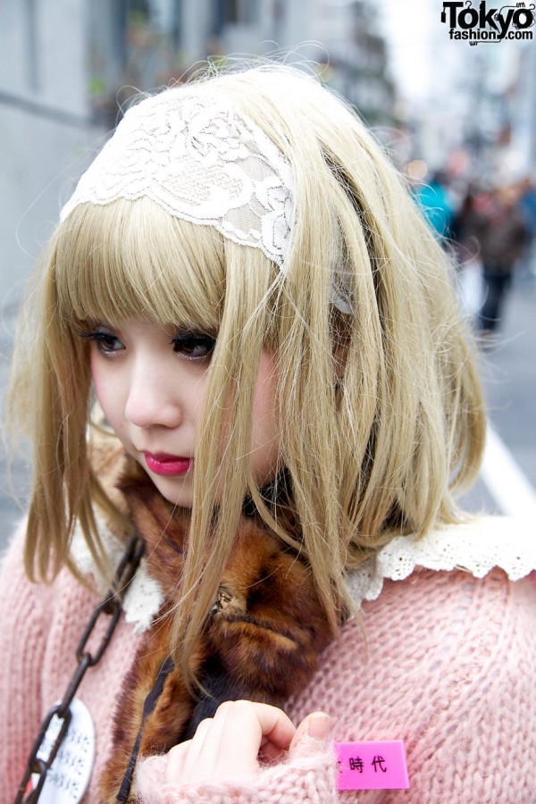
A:
{"type": "Polygon", "coordinates": [[[310,738],[301,741],[291,758],[240,781],[176,787],[165,783],[165,766],[165,757],[141,763],[137,796],[143,804],[331,804],[339,800],[333,750],[310,738]]]}

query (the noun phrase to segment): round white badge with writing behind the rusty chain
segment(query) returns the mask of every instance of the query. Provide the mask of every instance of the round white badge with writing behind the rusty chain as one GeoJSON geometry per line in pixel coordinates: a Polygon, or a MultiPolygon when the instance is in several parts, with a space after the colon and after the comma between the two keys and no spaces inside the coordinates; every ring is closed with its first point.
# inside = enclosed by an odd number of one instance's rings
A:
{"type": "MultiPolygon", "coordinates": [[[[38,758],[47,759],[60,731],[62,721],[54,716],[38,750],[38,758]]],[[[46,774],[39,804],[76,804],[88,787],[95,758],[95,729],[86,704],[78,698],[71,702],[71,723],[46,774]]],[[[34,789],[39,781],[32,776],[34,789]]]]}

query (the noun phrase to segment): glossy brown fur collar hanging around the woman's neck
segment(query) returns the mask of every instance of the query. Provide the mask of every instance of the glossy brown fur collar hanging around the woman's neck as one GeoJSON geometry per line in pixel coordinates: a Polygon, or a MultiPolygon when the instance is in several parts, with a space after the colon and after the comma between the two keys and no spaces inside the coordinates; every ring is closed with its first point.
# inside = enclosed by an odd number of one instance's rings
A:
{"type": "Polygon", "coordinates": [[[194,657],[209,694],[193,699],[169,658],[170,612],[187,522],[172,513],[172,506],[139,467],[130,465],[119,488],[145,541],[147,569],[162,584],[165,601],[117,702],[113,754],[101,781],[105,804],[134,801],[135,783],[130,786],[130,778],[136,758],[163,753],[188,740],[223,700],[283,704],[311,678],[319,653],[331,640],[306,564],[256,517],[242,516],[194,657]]]}

